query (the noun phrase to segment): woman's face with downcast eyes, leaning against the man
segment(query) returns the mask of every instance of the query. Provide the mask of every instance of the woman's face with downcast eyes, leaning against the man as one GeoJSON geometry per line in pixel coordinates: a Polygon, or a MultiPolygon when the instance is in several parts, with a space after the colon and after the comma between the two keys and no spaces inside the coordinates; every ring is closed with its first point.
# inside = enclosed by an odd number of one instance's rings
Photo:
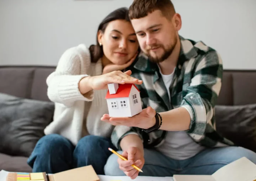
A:
{"type": "Polygon", "coordinates": [[[98,41],[106,58],[119,65],[128,62],[139,47],[132,24],[119,19],[108,23],[104,34],[98,32],[98,41]]]}

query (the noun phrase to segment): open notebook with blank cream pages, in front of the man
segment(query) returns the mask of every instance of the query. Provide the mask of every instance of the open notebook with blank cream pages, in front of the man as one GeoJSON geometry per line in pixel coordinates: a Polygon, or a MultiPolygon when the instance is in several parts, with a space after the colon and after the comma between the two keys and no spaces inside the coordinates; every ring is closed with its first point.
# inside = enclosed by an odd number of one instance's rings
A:
{"type": "Polygon", "coordinates": [[[174,181],[256,181],[256,165],[242,157],[212,175],[174,175],[174,181]]]}

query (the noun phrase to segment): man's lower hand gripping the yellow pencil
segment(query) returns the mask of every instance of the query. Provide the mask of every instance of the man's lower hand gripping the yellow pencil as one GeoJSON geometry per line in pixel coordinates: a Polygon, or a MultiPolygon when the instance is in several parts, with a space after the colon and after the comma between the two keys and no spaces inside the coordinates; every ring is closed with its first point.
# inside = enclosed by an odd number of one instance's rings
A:
{"type": "Polygon", "coordinates": [[[124,151],[122,155],[127,158],[127,161],[118,158],[117,162],[119,168],[131,179],[135,179],[139,175],[139,171],[131,165],[134,164],[142,169],[145,163],[143,151],[137,147],[130,147],[127,151],[124,151]]]}

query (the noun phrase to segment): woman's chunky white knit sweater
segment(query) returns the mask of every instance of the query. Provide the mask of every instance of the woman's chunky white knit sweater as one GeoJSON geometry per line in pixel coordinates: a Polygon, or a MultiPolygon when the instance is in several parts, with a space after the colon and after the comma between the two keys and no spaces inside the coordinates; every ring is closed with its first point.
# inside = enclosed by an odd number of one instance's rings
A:
{"type": "Polygon", "coordinates": [[[82,78],[101,74],[101,59],[91,63],[90,51],[84,44],[63,53],[56,70],[46,80],[48,97],[55,103],[53,122],[44,130],[46,135],[60,134],[74,145],[87,134],[111,136],[114,126],[100,120],[108,114],[107,90],[82,95],[78,88],[82,78]]]}

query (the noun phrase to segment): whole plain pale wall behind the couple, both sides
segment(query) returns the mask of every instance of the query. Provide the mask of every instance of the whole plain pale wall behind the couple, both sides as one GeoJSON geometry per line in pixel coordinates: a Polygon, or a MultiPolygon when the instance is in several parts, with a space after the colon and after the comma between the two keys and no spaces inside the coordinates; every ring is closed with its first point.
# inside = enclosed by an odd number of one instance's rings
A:
{"type": "MultiPolygon", "coordinates": [[[[55,66],[69,47],[95,43],[98,23],[132,1],[0,0],[0,65],[55,66]]],[[[173,2],[184,38],[218,50],[225,69],[256,69],[256,0],[173,2]]]]}

